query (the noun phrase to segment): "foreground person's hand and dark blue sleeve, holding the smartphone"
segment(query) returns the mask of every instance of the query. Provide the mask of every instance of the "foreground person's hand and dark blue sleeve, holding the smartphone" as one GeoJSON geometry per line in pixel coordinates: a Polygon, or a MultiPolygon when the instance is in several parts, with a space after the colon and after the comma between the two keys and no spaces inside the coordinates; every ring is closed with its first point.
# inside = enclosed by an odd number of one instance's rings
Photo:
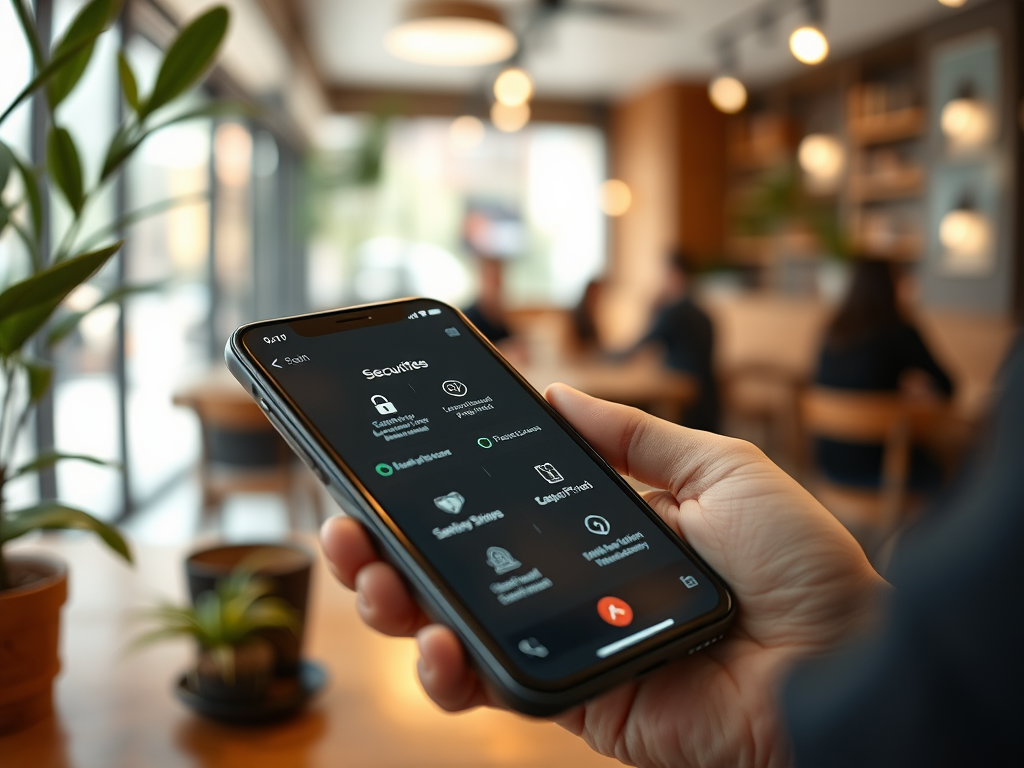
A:
{"type": "MultiPolygon", "coordinates": [[[[643,768],[1024,765],[1024,342],[983,447],[906,536],[889,582],[810,494],[741,440],[564,385],[545,396],[732,587],[724,641],[554,720],[643,768]]],[[[416,636],[420,680],[450,712],[500,706],[456,634],[431,624],[352,518],[322,531],[378,631],[416,636]]]]}

